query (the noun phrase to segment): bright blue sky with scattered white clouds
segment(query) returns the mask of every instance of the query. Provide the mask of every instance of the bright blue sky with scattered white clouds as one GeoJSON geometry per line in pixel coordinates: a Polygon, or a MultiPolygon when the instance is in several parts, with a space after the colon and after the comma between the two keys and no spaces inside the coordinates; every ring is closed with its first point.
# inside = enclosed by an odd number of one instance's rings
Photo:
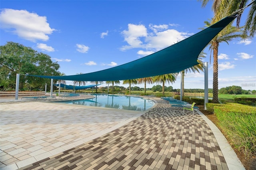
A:
{"type": "MultiPolygon", "coordinates": [[[[204,21],[213,17],[211,5],[202,8],[196,0],[1,0],[0,45],[16,42],[46,53],[66,75],[90,73],[134,61],[200,32],[204,21]]],[[[241,25],[247,13],[248,9],[241,25]]],[[[204,52],[212,88],[210,51],[204,52]]],[[[221,43],[218,55],[219,89],[237,85],[256,90],[256,38],[221,43]]],[[[170,85],[180,89],[180,76],[170,85]]],[[[204,89],[204,73],[187,73],[184,85],[204,89]]],[[[120,86],[128,87],[122,82],[120,86]]]]}

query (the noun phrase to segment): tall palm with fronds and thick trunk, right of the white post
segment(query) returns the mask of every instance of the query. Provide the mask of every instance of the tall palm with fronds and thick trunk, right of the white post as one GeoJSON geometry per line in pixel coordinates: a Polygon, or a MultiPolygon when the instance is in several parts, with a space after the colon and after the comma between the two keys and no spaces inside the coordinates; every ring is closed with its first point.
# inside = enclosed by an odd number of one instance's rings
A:
{"type": "MultiPolygon", "coordinates": [[[[205,27],[212,25],[212,22],[205,21],[205,27]]],[[[234,26],[224,28],[217,36],[215,36],[208,44],[209,49],[213,51],[213,98],[212,103],[219,103],[218,100],[218,47],[220,43],[234,40],[235,38],[246,38],[241,34],[241,30],[234,26]]]]}

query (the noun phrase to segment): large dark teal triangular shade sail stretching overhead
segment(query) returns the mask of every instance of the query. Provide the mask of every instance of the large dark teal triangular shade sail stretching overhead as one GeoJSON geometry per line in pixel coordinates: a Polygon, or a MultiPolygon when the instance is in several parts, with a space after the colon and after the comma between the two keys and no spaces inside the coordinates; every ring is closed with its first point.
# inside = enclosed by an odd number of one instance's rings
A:
{"type": "Polygon", "coordinates": [[[116,81],[178,73],[197,65],[198,55],[204,47],[235,18],[236,14],[228,16],[174,45],[146,57],[110,69],[80,75],[31,76],[71,81],[116,81]]]}

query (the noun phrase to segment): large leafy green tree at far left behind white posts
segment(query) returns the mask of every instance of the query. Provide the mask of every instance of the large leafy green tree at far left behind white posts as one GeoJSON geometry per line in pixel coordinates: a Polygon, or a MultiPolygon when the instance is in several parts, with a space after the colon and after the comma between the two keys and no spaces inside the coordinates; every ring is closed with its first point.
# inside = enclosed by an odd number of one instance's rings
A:
{"type": "Polygon", "coordinates": [[[60,65],[51,57],[38,53],[31,47],[20,43],[7,42],[0,46],[0,84],[5,88],[15,88],[16,73],[20,73],[20,89],[29,84],[31,89],[42,89],[49,79],[30,75],[59,75],[60,65]]]}

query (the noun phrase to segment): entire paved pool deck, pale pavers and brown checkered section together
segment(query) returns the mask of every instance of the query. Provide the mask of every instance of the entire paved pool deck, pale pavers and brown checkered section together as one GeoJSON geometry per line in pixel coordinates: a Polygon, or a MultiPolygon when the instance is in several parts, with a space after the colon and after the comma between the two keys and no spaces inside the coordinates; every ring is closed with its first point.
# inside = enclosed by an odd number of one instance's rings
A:
{"type": "Polygon", "coordinates": [[[0,99],[0,170],[244,170],[201,112],[152,99],[144,112],[0,99]]]}

